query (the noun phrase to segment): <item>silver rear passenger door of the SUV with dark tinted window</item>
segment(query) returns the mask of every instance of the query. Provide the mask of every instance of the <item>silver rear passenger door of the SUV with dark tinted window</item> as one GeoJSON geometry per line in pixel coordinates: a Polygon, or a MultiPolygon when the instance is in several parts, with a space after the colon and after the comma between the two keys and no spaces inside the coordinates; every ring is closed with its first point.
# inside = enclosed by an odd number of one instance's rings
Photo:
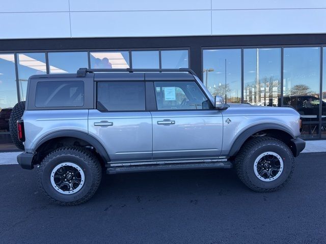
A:
{"type": "Polygon", "coordinates": [[[89,110],[89,133],[111,161],[152,159],[152,117],[146,111],[144,74],[124,80],[97,79],[96,109],[89,110]]]}

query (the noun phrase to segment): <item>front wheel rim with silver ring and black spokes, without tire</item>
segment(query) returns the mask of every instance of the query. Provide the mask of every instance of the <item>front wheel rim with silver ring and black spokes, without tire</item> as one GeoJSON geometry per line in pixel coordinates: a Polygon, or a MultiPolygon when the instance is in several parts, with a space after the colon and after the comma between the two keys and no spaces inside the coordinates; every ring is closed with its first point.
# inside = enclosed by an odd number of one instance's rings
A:
{"type": "Polygon", "coordinates": [[[273,151],[266,151],[257,157],[254,163],[254,172],[262,181],[273,181],[283,171],[283,160],[280,155],[273,151]]]}

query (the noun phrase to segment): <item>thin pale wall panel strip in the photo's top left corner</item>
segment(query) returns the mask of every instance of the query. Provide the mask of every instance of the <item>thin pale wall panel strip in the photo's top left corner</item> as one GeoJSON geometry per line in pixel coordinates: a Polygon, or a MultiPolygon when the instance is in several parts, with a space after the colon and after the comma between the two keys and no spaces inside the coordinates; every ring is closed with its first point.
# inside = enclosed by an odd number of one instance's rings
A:
{"type": "Polygon", "coordinates": [[[69,11],[68,0],[2,0],[0,13],[69,11]]]}

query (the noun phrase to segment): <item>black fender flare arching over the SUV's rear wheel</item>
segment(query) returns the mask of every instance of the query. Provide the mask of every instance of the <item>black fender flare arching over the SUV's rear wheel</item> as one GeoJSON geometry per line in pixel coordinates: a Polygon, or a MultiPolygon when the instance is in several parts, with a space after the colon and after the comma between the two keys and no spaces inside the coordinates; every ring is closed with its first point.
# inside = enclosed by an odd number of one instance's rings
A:
{"type": "Polygon", "coordinates": [[[104,164],[110,161],[110,157],[108,156],[104,146],[95,137],[85,132],[73,131],[73,130],[62,130],[62,131],[52,132],[42,137],[42,139],[40,139],[34,146],[33,152],[39,153],[49,143],[64,141],[67,139],[76,139],[76,141],[78,142],[84,142],[84,144],[88,144],[92,146],[96,150],[97,154],[100,156],[100,159],[103,161],[104,164]]]}

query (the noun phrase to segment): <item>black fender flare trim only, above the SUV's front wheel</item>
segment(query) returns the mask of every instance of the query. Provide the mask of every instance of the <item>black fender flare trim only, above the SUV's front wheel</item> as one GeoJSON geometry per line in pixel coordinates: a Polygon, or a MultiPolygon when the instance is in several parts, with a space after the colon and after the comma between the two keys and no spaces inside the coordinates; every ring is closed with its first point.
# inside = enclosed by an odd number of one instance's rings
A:
{"type": "Polygon", "coordinates": [[[244,130],[243,132],[241,132],[240,135],[238,135],[238,137],[235,139],[235,141],[233,142],[233,145],[230,149],[229,152],[229,156],[235,156],[240,147],[243,145],[243,143],[253,134],[259,132],[259,131],[263,131],[263,130],[280,130],[283,132],[286,132],[287,134],[289,134],[292,139],[295,139],[295,136],[293,135],[293,133],[288,130],[287,128],[285,128],[284,126],[278,125],[278,124],[272,124],[272,123],[266,123],[266,124],[259,124],[259,125],[255,125],[252,126],[246,130],[244,130]]]}

